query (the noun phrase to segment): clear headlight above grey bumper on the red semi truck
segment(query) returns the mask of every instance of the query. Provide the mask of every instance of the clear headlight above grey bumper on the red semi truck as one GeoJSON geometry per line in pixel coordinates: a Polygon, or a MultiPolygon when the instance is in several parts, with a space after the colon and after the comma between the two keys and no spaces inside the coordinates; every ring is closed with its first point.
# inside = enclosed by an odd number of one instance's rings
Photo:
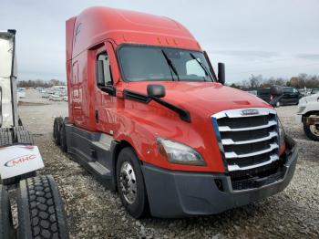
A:
{"type": "Polygon", "coordinates": [[[206,164],[201,158],[201,154],[191,149],[189,146],[162,138],[158,138],[157,142],[160,154],[165,157],[167,161],[197,166],[206,164]]]}

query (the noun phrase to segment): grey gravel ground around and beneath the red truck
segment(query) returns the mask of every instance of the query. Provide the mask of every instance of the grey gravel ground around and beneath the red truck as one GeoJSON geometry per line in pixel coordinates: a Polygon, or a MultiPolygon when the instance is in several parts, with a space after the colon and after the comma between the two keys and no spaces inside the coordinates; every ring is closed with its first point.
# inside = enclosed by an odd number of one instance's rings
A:
{"type": "Polygon", "coordinates": [[[293,181],[260,203],[218,215],[186,219],[135,220],[117,193],[106,190],[52,140],[54,117],[67,115],[67,102],[39,99],[27,90],[19,107],[21,119],[35,134],[46,168],[65,200],[71,238],[319,238],[319,142],[308,140],[294,122],[296,106],[278,109],[284,129],[299,145],[293,181]],[[34,104],[41,102],[41,104],[34,104]]]}

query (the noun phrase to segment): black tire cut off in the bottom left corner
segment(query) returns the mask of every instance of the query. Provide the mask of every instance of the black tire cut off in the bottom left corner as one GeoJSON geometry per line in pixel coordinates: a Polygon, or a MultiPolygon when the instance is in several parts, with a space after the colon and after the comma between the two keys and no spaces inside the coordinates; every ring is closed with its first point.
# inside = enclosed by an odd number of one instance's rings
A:
{"type": "Polygon", "coordinates": [[[12,221],[10,200],[3,185],[0,185],[0,238],[15,238],[15,228],[12,221]]]}

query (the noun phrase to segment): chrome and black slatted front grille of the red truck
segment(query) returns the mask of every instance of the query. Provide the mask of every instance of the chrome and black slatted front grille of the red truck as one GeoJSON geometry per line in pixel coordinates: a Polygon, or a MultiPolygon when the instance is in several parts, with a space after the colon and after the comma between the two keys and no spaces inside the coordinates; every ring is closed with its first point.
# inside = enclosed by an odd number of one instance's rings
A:
{"type": "Polygon", "coordinates": [[[276,111],[231,109],[211,117],[228,171],[262,167],[279,160],[276,111]]]}

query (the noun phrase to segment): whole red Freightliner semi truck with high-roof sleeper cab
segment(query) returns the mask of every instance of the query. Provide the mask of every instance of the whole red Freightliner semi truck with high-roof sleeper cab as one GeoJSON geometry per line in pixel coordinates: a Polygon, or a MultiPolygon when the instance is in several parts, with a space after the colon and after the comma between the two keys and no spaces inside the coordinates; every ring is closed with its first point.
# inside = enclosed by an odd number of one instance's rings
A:
{"type": "Polygon", "coordinates": [[[180,23],[88,8],[67,20],[68,117],[54,139],[136,218],[260,201],[292,180],[297,149],[270,104],[224,81],[180,23]]]}

